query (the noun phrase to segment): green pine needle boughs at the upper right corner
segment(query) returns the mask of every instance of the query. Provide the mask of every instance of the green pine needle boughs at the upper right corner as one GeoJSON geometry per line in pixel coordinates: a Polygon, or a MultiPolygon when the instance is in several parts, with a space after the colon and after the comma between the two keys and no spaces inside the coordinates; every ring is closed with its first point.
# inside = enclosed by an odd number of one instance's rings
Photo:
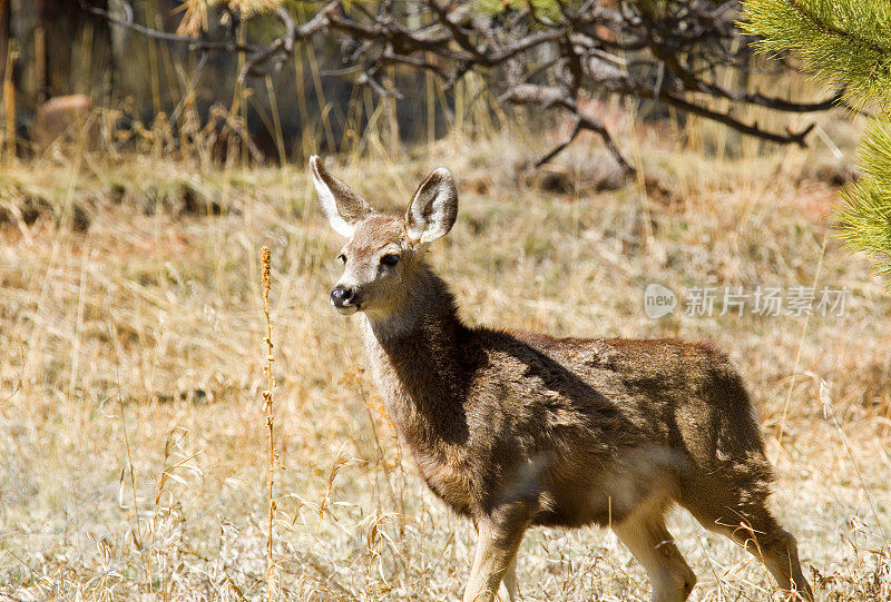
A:
{"type": "Polygon", "coordinates": [[[760,36],[760,51],[793,52],[817,78],[843,86],[854,107],[879,107],[860,142],[864,176],[842,190],[836,218],[848,248],[891,276],[891,2],[747,0],[740,27],[760,36]]]}

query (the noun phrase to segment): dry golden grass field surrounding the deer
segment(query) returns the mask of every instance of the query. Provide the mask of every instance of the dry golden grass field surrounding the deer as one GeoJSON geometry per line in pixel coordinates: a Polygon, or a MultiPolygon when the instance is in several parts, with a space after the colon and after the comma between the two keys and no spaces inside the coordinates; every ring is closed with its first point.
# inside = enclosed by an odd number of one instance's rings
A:
{"type": "MultiPolygon", "coordinates": [[[[891,596],[891,297],[832,236],[852,134],[727,158],[669,130],[628,147],[647,177],[605,190],[598,146],[547,177],[525,142],[449,140],[329,166],[402,210],[432,168],[461,209],[432,263],[473,323],[561,335],[711,338],[746,376],[777,513],[823,600],[891,596]],[[681,306],[655,320],[659,283],[681,306]],[[843,315],[691,316],[695,287],[842,289],[843,315]]],[[[531,145],[535,146],[535,145],[531,145]]],[[[456,600],[473,529],[425,490],[372,391],[356,318],[327,293],[342,244],[302,166],[56,157],[0,170],[0,600],[265,596],[266,378],[258,249],[272,249],[282,600],[456,600]]],[[[681,512],[693,600],[779,596],[681,512]]],[[[528,601],[644,600],[611,533],[537,530],[528,601]]]]}

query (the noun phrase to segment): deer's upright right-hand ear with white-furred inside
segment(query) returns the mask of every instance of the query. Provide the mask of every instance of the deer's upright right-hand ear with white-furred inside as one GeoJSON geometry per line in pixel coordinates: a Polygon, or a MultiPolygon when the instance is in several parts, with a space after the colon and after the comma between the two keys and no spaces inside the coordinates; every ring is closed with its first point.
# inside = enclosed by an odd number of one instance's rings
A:
{"type": "Polygon", "coordinates": [[[458,217],[458,190],[449,170],[440,167],[418,187],[405,213],[405,230],[415,243],[446,236],[458,217]]]}

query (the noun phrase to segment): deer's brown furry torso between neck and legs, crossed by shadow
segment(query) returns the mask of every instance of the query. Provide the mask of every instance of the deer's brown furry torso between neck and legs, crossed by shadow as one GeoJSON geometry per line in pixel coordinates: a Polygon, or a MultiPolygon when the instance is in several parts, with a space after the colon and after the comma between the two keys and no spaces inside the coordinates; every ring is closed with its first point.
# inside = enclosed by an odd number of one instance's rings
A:
{"type": "Polygon", "coordinates": [[[527,496],[538,523],[607,523],[728,462],[768,476],[742,378],[708,344],[488,329],[470,344],[476,505],[527,496]]]}

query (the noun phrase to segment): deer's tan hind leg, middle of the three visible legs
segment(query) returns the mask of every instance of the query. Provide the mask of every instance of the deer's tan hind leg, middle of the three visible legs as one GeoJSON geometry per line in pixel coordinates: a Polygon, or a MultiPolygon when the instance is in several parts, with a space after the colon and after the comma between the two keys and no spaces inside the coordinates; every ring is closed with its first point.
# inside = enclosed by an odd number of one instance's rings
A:
{"type": "Polygon", "coordinates": [[[635,514],[614,525],[613,531],[647,571],[654,602],[687,599],[696,584],[696,575],[665,527],[660,511],[635,514]]]}

